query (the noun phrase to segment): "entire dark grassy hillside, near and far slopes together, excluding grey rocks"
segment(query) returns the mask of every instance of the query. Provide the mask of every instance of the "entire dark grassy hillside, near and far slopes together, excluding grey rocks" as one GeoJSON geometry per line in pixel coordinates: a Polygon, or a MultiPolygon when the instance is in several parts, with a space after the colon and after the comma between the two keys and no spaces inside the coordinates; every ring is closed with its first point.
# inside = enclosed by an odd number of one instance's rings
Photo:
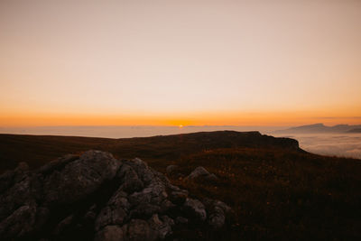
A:
{"type": "Polygon", "coordinates": [[[222,199],[235,210],[223,239],[360,239],[361,162],[306,153],[297,142],[259,133],[214,132],[130,139],[0,135],[1,170],[32,167],[65,153],[99,149],[143,158],[187,175],[199,165],[218,181],[170,180],[190,193],[222,199]]]}

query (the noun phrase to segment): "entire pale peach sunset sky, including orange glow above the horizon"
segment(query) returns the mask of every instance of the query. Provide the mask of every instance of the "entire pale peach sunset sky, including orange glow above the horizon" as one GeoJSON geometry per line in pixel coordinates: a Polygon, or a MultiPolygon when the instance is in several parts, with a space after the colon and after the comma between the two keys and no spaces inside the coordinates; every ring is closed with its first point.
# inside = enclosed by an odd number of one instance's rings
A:
{"type": "Polygon", "coordinates": [[[0,126],[361,124],[361,1],[0,1],[0,126]]]}

